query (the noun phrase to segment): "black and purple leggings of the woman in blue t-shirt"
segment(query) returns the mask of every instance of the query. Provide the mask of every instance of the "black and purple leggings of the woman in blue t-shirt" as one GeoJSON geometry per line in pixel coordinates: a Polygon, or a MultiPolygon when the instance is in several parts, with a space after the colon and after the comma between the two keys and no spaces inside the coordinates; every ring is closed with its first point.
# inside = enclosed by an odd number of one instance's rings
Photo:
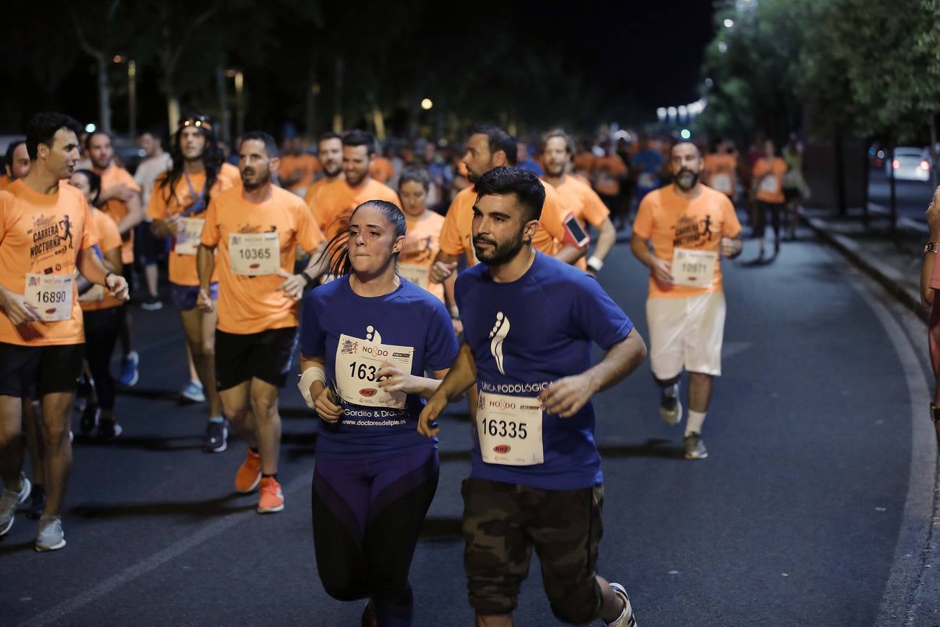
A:
{"type": "Polygon", "coordinates": [[[384,625],[410,625],[408,571],[437,491],[437,450],[374,460],[318,460],[313,541],[323,588],[334,599],[371,598],[384,625]]]}

